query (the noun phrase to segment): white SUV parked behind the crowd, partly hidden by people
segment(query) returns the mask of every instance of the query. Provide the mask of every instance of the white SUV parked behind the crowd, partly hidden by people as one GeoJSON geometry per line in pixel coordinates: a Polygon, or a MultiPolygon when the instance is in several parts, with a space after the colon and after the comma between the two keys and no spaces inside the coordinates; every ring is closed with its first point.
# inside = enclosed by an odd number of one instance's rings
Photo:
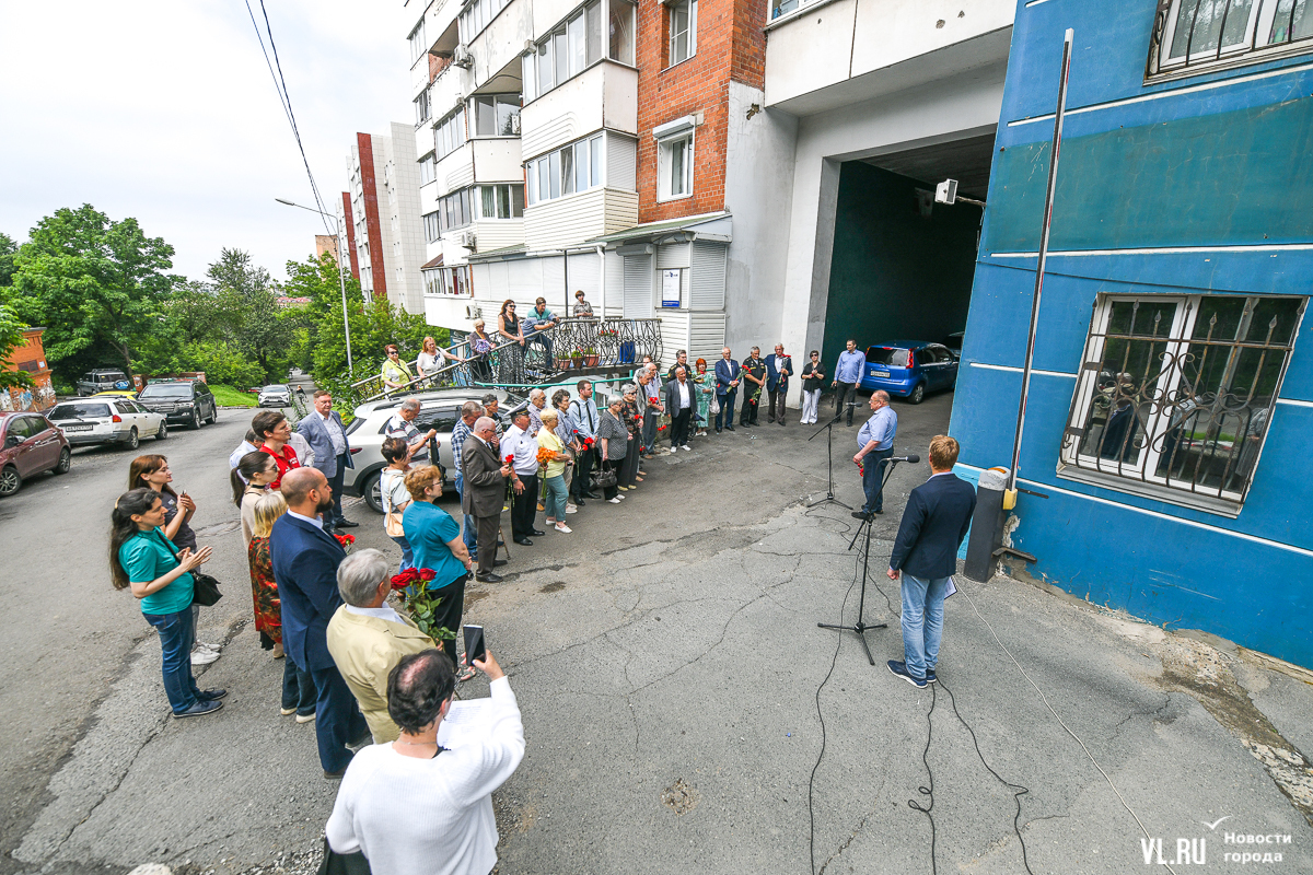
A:
{"type": "MultiPolygon", "coordinates": [[[[509,412],[515,407],[523,407],[525,401],[512,399],[500,390],[491,390],[492,395],[500,399],[498,418],[503,425],[509,424],[509,412]],[[511,407],[515,404],[515,407],[511,407]]],[[[432,454],[435,462],[445,468],[444,480],[450,483],[456,476],[452,468],[452,429],[461,418],[461,405],[465,401],[482,400],[488,395],[488,390],[482,388],[448,388],[436,392],[419,392],[414,397],[419,399],[419,416],[415,417],[415,428],[420,432],[437,429],[437,439],[441,447],[437,454],[432,454]]],[[[410,397],[410,396],[407,396],[410,397]]],[[[387,466],[383,459],[382,446],[383,430],[387,420],[393,418],[397,408],[402,405],[403,397],[369,401],[356,408],[356,418],[347,426],[347,441],[351,443],[351,459],[355,468],[348,468],[343,478],[343,492],[349,496],[362,496],[376,513],[383,512],[383,500],[378,492],[378,478],[387,466]]]]}

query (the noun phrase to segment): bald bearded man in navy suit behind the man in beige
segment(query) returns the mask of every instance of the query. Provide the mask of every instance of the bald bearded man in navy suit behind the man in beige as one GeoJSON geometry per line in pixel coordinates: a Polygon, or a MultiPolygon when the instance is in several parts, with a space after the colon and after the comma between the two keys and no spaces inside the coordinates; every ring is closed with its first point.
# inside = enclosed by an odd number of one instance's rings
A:
{"type": "Polygon", "coordinates": [[[282,476],[281,489],[288,513],[273,523],[269,560],[282,602],[282,647],[288,659],[315,681],[319,762],[324,778],[339,781],[351,762],[348,746],[370,737],[356,697],[328,652],[328,621],[341,606],[337,565],[347,554],[319,519],[332,508],[332,489],[323,471],[293,468],[282,476]]]}

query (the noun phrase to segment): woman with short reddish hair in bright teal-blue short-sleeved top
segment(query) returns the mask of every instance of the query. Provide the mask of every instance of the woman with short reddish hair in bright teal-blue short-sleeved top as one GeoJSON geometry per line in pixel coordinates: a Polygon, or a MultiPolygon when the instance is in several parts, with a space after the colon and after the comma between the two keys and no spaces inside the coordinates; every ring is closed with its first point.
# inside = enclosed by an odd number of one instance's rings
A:
{"type": "MultiPolygon", "coordinates": [[[[412,501],[402,514],[402,527],[411,546],[411,558],[415,568],[433,569],[428,588],[442,600],[433,621],[441,628],[456,632],[461,628],[461,614],[465,611],[465,581],[474,563],[461,540],[461,526],[452,519],[452,514],[433,504],[442,496],[442,471],[436,464],[415,468],[406,475],[406,489],[412,501]]],[[[454,666],[456,641],[442,641],[442,649],[454,666]]],[[[457,681],[467,681],[474,677],[474,669],[466,666],[456,677],[457,681]]]]}

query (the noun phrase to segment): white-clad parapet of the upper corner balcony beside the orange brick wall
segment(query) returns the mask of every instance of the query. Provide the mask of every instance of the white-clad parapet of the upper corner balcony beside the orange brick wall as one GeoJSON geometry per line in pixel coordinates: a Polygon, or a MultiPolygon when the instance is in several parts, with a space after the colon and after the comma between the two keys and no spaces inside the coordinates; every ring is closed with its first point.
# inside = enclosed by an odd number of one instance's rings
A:
{"type": "Polygon", "coordinates": [[[524,157],[536,157],[603,127],[638,135],[638,71],[601,60],[520,113],[524,157]]]}

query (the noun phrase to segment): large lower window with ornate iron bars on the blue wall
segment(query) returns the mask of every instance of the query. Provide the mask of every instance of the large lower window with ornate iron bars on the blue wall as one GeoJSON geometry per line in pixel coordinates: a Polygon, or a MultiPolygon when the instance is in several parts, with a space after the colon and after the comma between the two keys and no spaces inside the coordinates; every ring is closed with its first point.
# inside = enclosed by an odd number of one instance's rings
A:
{"type": "Polygon", "coordinates": [[[1100,295],[1062,463],[1113,488],[1120,478],[1242,502],[1305,303],[1100,295]]]}

